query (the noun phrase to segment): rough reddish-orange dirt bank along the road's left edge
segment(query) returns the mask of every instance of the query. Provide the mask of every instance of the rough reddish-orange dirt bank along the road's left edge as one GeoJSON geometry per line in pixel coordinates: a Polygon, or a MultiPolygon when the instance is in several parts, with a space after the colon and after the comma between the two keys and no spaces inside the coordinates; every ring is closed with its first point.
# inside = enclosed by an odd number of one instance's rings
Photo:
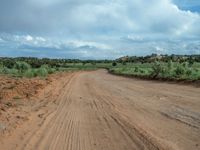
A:
{"type": "MultiPolygon", "coordinates": [[[[57,73],[47,78],[14,78],[0,76],[0,136],[29,120],[34,110],[51,102],[59,94],[59,85],[70,76],[57,73]]],[[[60,87],[62,89],[62,87],[60,87]]]]}

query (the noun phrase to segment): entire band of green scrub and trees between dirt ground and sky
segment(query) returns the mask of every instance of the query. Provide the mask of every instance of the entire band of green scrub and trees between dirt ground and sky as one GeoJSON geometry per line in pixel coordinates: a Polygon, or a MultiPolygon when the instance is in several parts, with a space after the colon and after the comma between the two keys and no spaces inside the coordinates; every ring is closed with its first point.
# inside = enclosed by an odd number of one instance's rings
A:
{"type": "Polygon", "coordinates": [[[122,57],[116,60],[0,58],[0,74],[46,77],[60,71],[108,69],[111,73],[151,79],[200,80],[200,55],[122,57]]]}

